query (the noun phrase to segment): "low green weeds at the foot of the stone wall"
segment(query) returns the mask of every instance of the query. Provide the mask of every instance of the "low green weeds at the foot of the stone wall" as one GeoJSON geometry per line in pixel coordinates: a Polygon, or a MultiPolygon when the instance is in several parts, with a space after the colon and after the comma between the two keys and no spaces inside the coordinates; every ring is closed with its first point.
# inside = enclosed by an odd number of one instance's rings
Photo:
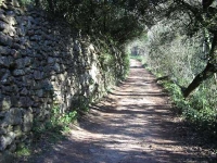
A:
{"type": "Polygon", "coordinates": [[[71,129],[71,124],[74,123],[77,117],[77,111],[60,114],[60,108],[58,105],[53,106],[50,118],[46,123],[35,120],[33,127],[34,146],[20,143],[15,151],[16,156],[23,158],[33,155],[33,150],[35,150],[34,147],[39,141],[42,141],[42,143],[43,141],[55,143],[56,141],[64,139],[64,134],[71,129]]]}

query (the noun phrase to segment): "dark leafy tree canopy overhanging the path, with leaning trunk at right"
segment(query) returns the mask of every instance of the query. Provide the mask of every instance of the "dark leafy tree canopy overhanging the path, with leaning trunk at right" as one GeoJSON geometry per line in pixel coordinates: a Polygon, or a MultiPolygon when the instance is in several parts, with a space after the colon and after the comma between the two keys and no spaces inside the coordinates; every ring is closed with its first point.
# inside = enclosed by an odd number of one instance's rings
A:
{"type": "MultiPolygon", "coordinates": [[[[171,32],[190,38],[197,34],[205,49],[205,68],[183,89],[187,98],[203,80],[217,72],[217,2],[215,0],[33,0],[52,15],[89,35],[102,33],[119,45],[141,35],[166,18],[171,32]]],[[[162,37],[163,38],[163,37],[162,37]]]]}

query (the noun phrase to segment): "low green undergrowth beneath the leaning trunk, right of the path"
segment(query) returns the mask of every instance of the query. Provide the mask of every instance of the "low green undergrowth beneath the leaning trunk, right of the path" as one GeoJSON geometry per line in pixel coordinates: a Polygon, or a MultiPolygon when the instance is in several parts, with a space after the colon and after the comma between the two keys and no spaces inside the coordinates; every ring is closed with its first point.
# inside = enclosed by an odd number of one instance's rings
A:
{"type": "Polygon", "coordinates": [[[197,91],[189,99],[183,99],[180,87],[171,80],[161,82],[170,93],[171,100],[182,117],[191,123],[193,128],[204,136],[214,140],[217,137],[217,113],[206,100],[206,91],[197,91]]]}

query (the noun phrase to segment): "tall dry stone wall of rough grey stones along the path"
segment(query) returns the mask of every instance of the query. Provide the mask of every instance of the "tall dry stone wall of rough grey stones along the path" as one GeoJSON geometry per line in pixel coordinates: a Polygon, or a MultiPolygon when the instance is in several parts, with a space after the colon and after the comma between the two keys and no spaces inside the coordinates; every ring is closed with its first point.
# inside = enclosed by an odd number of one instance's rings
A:
{"type": "MultiPolygon", "coordinates": [[[[0,7],[0,153],[31,140],[33,122],[101,98],[124,74],[111,42],[72,32],[15,0],[0,7]],[[105,55],[106,54],[106,55],[105,55]]],[[[60,113],[60,114],[61,114],[60,113]]]]}

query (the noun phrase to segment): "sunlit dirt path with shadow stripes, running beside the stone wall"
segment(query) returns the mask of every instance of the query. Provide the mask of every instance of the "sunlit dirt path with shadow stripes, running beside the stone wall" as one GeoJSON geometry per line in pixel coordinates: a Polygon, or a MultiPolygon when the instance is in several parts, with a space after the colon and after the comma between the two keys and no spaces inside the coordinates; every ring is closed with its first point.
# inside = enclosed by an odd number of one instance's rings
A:
{"type": "MultiPolygon", "coordinates": [[[[131,60],[128,79],[91,106],[68,140],[53,146],[36,163],[193,163],[208,162],[202,149],[186,142],[154,76],[131,60]]],[[[189,138],[190,139],[190,138],[189,138]]]]}

